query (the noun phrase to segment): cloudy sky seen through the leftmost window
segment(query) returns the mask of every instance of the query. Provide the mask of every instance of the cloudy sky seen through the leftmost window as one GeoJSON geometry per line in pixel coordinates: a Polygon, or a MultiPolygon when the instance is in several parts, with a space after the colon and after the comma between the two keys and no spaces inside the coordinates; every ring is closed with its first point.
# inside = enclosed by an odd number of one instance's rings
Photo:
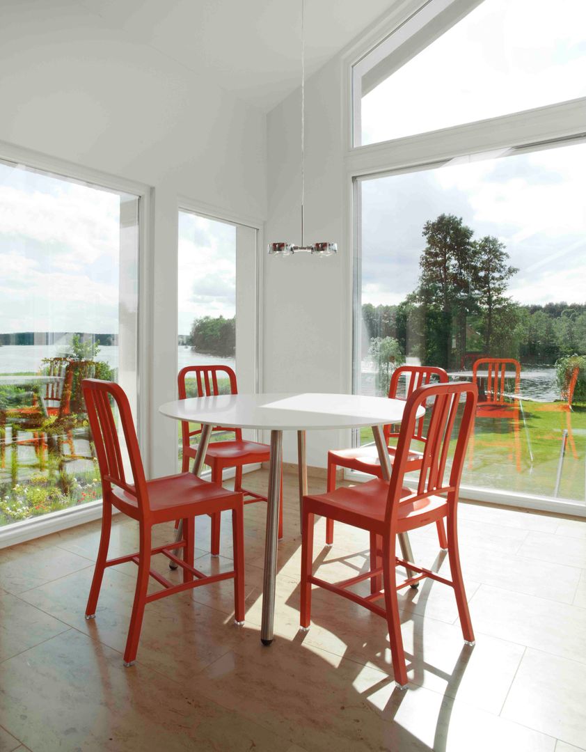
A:
{"type": "MultiPolygon", "coordinates": [[[[118,332],[130,198],[0,162],[1,333],[118,332]]],[[[136,249],[130,260],[135,270],[136,249]]]]}

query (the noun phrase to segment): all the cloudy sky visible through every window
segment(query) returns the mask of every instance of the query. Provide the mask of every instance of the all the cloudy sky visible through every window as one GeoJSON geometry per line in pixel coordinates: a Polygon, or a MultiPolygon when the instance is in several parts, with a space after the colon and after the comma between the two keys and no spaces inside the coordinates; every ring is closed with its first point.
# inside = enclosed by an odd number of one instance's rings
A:
{"type": "MultiPolygon", "coordinates": [[[[363,99],[363,143],[585,96],[586,2],[556,11],[550,0],[485,0],[363,99]]],[[[457,161],[361,183],[363,301],[397,303],[415,288],[422,226],[447,212],[503,241],[521,268],[509,290],[518,302],[584,302],[586,145],[457,161]]],[[[129,199],[0,162],[0,333],[118,331],[129,199]]],[[[233,225],[180,214],[180,334],[196,317],[234,316],[235,259],[233,225]]],[[[135,295],[123,305],[136,308],[135,295]]]]}

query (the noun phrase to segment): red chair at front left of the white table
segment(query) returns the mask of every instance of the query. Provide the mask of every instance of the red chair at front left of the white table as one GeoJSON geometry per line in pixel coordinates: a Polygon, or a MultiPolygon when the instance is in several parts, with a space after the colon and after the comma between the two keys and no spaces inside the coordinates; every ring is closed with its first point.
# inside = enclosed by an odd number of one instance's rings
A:
{"type": "Polygon", "coordinates": [[[138,565],[138,577],[124,651],[125,666],[132,666],[136,658],[144,607],[147,603],[159,598],[210,582],[234,578],[234,619],[237,624],[242,624],[244,620],[242,494],[225,490],[215,483],[202,481],[201,478],[189,472],[146,481],[130,405],[123,390],[117,384],[98,379],[84,379],[82,389],[87,405],[89,426],[92,429],[98,455],[104,505],[98,559],[95,562],[92,587],[89,591],[86,619],[95,617],[104,569],[107,566],[132,561],[138,565]],[[115,403],[119,410],[120,424],[132,472],[133,481],[131,482],[125,477],[122,450],[111,403],[115,403]],[[139,523],[140,550],[129,556],[107,559],[113,506],[139,523]],[[234,570],[207,577],[193,566],[195,517],[199,514],[219,514],[227,509],[232,512],[234,570]],[[185,536],[183,540],[171,541],[164,546],[153,548],[151,544],[153,526],[177,519],[183,520],[183,535],[185,536]],[[183,560],[173,553],[173,550],[177,548],[183,548],[183,560]],[[150,558],[156,553],[165,554],[172,562],[183,568],[183,583],[174,585],[159,575],[159,572],[150,569],[150,558]],[[162,589],[147,594],[149,577],[162,584],[162,589]]]}

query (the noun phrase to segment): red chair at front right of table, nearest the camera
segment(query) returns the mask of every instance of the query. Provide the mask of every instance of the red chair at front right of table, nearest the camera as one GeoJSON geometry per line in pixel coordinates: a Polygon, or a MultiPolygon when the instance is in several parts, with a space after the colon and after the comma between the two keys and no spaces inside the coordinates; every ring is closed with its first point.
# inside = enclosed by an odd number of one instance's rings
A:
{"type": "Polygon", "coordinates": [[[477,390],[473,384],[427,384],[427,386],[420,387],[407,400],[390,484],[377,478],[366,484],[338,488],[320,496],[304,496],[301,546],[301,628],[308,629],[310,626],[312,585],[319,585],[333,593],[338,593],[352,602],[365,606],[374,614],[379,614],[387,620],[394,679],[401,689],[406,688],[407,672],[400,631],[397,590],[426,577],[453,587],[464,640],[468,643],[474,642],[458,553],[457,511],[464,455],[474,423],[476,399],[477,390]],[[409,450],[416,430],[416,411],[430,399],[433,399],[433,405],[428,408],[430,424],[427,442],[424,444],[421,457],[418,485],[415,490],[411,490],[403,487],[403,483],[406,473],[411,472],[409,450]],[[456,414],[461,400],[464,400],[464,409],[459,428],[455,430],[456,414]],[[453,434],[456,436],[455,445],[452,444],[452,455],[450,443],[453,434]],[[446,484],[444,475],[449,455],[452,455],[452,468],[446,484]],[[382,550],[376,551],[376,559],[381,556],[382,565],[379,559],[375,569],[337,584],[314,577],[312,574],[313,518],[316,514],[368,530],[371,541],[376,536],[381,536],[382,550]],[[448,527],[448,556],[452,580],[395,556],[397,535],[424,525],[436,524],[444,517],[448,527]],[[419,574],[397,584],[395,571],[397,566],[403,566],[419,574]],[[372,584],[381,573],[383,590],[377,590],[365,597],[348,590],[349,587],[367,579],[370,579],[372,584]],[[376,603],[379,599],[384,599],[384,608],[376,603]]]}

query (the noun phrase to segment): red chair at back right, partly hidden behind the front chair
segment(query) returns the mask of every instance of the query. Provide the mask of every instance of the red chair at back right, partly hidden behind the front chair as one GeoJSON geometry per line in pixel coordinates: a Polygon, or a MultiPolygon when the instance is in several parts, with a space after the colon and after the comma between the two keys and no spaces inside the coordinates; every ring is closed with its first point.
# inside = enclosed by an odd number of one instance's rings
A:
{"type": "MultiPolygon", "coordinates": [[[[435,368],[432,365],[401,365],[393,371],[391,384],[388,387],[388,398],[397,399],[400,378],[405,377],[405,398],[407,399],[416,389],[424,384],[430,384],[433,378],[439,384],[447,384],[448,374],[443,368],[435,368]]],[[[398,399],[403,399],[402,397],[398,399]]],[[[397,438],[398,433],[391,432],[391,426],[385,426],[385,441],[388,444],[389,439],[397,438]]],[[[419,442],[419,447],[409,451],[407,464],[409,470],[418,470],[421,467],[421,449],[424,448],[427,437],[424,434],[424,419],[415,423],[415,432],[413,438],[419,442]]],[[[396,447],[388,447],[389,459],[391,465],[394,462],[396,447]]],[[[336,488],[336,470],[338,467],[358,470],[358,472],[367,473],[367,475],[376,475],[376,478],[382,478],[380,469],[379,453],[372,444],[366,447],[352,447],[352,449],[334,449],[328,452],[328,492],[336,488]]],[[[446,532],[443,529],[443,523],[437,524],[437,535],[439,537],[439,546],[446,548],[446,532]]],[[[325,542],[328,546],[334,543],[334,520],[325,522],[325,542]]]]}

